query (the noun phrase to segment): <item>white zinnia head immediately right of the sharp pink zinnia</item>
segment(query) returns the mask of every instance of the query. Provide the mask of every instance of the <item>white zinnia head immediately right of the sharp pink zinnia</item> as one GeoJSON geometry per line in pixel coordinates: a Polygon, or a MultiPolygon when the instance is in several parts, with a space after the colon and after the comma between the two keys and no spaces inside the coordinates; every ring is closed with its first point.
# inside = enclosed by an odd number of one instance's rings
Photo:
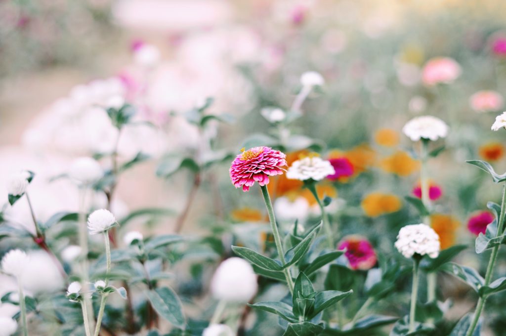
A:
{"type": "Polygon", "coordinates": [[[301,181],[309,179],[320,181],[332,174],[335,174],[335,170],[330,161],[323,160],[318,156],[306,156],[291,164],[286,172],[286,178],[301,181]]]}

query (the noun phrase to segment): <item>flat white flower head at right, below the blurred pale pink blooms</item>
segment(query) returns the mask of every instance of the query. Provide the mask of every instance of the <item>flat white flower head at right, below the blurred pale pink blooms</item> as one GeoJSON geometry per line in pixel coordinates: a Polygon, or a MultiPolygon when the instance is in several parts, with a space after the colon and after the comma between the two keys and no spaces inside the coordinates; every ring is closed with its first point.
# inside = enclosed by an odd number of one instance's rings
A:
{"type": "Polygon", "coordinates": [[[436,141],[448,135],[448,125],[437,117],[423,115],[406,122],[402,132],[412,141],[420,139],[436,141]]]}

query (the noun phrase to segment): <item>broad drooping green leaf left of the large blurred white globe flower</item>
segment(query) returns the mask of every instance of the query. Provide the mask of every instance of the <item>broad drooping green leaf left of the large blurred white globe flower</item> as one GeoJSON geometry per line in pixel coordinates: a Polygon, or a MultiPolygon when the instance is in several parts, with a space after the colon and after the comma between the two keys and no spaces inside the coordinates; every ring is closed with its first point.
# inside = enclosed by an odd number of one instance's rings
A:
{"type": "Polygon", "coordinates": [[[165,320],[178,328],[186,324],[181,302],[176,293],[168,287],[156,288],[145,292],[154,310],[165,320]]]}

